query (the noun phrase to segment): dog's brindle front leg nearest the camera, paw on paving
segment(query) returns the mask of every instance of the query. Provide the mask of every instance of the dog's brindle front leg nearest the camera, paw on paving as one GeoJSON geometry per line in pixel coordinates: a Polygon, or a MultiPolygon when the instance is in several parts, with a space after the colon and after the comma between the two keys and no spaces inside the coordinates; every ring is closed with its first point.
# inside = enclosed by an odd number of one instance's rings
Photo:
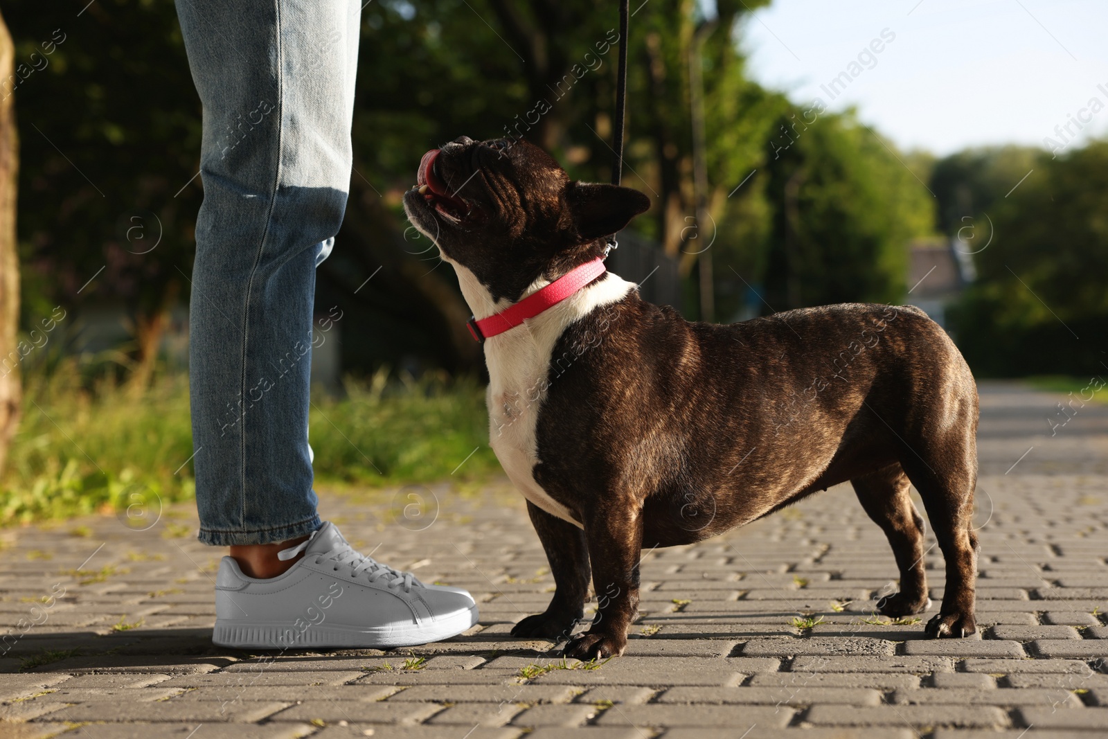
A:
{"type": "Polygon", "coordinates": [[[638,610],[642,513],[638,502],[618,501],[597,506],[585,521],[596,617],[587,632],[565,646],[567,657],[605,659],[622,655],[627,647],[627,627],[638,610]]]}

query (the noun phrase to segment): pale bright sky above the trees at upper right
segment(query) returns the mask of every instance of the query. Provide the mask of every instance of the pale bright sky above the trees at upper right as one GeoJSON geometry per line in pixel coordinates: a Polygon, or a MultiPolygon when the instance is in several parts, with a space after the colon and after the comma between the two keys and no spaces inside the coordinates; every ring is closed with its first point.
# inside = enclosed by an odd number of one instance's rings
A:
{"type": "Polygon", "coordinates": [[[751,76],[793,102],[854,105],[901,148],[945,155],[1108,134],[1106,32],[1106,0],[773,0],[740,44],[751,76]],[[892,41],[850,69],[882,31],[892,41]],[[856,76],[832,100],[821,85],[843,71],[856,76]]]}

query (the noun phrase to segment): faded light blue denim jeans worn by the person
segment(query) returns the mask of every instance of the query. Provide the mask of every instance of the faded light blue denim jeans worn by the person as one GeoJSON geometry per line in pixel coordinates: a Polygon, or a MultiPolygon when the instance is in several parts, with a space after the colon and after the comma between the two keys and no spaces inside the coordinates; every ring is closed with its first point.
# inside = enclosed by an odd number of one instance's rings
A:
{"type": "Polygon", "coordinates": [[[315,531],[316,266],[342,222],[358,0],[177,0],[204,109],[189,305],[199,540],[315,531]]]}

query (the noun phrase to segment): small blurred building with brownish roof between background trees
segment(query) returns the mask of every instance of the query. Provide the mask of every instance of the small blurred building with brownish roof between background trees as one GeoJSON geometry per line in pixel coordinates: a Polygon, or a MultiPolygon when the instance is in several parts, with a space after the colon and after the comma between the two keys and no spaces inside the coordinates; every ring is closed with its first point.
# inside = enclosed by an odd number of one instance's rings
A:
{"type": "Polygon", "coordinates": [[[973,258],[957,239],[921,239],[909,245],[904,302],[922,308],[946,328],[946,308],[975,277],[973,258]]]}

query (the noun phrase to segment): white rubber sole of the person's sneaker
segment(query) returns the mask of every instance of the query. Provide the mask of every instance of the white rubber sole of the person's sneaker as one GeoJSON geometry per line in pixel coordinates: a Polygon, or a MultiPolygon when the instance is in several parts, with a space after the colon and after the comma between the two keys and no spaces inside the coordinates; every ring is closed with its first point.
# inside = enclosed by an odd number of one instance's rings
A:
{"type": "Polygon", "coordinates": [[[478,607],[461,610],[429,624],[404,626],[308,626],[289,639],[288,624],[266,622],[216,619],[212,630],[212,643],[219,647],[250,647],[261,649],[288,649],[290,647],[414,647],[431,642],[441,642],[458,636],[478,623],[478,607]]]}

